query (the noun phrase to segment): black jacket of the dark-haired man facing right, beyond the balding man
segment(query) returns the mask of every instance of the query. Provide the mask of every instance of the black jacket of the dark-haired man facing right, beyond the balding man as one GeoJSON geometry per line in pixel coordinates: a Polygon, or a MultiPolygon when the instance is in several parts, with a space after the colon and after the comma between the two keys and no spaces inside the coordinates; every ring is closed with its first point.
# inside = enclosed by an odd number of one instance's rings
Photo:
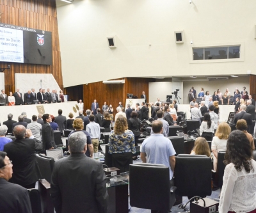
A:
{"type": "Polygon", "coordinates": [[[43,150],[49,150],[49,148],[52,148],[52,146],[54,146],[54,134],[52,131],[52,127],[47,122],[42,125],[42,142],[43,150]]]}

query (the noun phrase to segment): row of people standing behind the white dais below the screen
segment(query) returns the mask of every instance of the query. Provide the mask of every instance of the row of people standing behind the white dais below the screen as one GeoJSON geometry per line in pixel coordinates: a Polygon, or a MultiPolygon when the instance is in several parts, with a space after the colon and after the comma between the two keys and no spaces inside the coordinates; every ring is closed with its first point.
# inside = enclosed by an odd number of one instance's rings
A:
{"type": "Polygon", "coordinates": [[[15,105],[27,105],[33,104],[34,100],[38,100],[39,104],[47,103],[57,103],[57,102],[64,102],[64,94],[63,91],[60,90],[60,95],[58,95],[57,90],[52,90],[48,88],[45,92],[45,89],[40,88],[39,91],[36,93],[35,89],[32,88],[28,90],[28,92],[20,93],[20,89],[16,89],[15,93],[12,91],[9,92],[9,96],[5,94],[4,90],[1,90],[0,94],[0,104],[3,106],[15,106],[15,105]]]}

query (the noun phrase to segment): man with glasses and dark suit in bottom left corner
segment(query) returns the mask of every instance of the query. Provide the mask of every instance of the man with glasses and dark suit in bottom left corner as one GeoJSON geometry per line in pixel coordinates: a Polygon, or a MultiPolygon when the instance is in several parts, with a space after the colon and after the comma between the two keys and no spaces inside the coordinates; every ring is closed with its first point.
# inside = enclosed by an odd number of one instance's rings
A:
{"type": "Polygon", "coordinates": [[[1,212],[32,213],[28,190],[8,182],[12,178],[12,161],[0,151],[0,200],[1,212]]]}

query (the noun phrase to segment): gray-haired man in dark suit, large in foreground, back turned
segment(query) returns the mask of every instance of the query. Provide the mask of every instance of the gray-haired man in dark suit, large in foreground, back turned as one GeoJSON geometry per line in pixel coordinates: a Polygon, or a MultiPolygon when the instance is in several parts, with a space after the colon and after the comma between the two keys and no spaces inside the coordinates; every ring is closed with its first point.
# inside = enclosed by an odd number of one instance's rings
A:
{"type": "Polygon", "coordinates": [[[106,175],[101,162],[84,155],[86,135],[70,135],[68,148],[71,154],[56,161],[52,171],[51,198],[56,212],[107,213],[106,175]]]}

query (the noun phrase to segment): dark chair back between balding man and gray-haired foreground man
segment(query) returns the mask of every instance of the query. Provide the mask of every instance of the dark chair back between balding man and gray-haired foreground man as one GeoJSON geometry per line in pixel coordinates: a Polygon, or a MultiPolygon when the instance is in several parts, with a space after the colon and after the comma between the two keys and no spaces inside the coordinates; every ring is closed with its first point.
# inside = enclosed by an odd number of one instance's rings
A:
{"type": "Polygon", "coordinates": [[[52,169],[54,165],[54,159],[45,155],[36,155],[36,161],[38,163],[42,179],[51,183],[52,169]]]}

